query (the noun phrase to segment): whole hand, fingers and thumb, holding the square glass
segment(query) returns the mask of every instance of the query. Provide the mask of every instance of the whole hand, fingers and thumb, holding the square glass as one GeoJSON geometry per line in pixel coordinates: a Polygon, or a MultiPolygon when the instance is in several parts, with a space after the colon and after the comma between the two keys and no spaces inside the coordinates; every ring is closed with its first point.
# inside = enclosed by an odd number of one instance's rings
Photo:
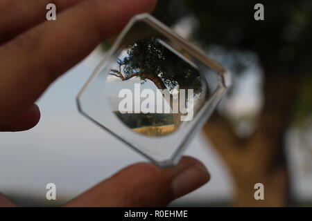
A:
{"type": "MultiPolygon", "coordinates": [[[[0,131],[24,131],[39,122],[34,102],[66,70],[115,34],[155,0],[55,0],[56,21],[45,20],[50,1],[0,1],[0,131]]],[[[67,206],[163,206],[209,180],[205,166],[184,157],[170,169],[128,166],[67,206]]],[[[0,206],[12,206],[0,196],[0,206]]]]}

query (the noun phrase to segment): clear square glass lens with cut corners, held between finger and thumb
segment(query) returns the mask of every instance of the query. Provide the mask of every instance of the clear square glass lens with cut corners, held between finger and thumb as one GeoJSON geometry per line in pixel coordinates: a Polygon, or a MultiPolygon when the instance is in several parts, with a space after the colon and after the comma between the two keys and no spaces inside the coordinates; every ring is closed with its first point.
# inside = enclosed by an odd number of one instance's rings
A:
{"type": "Polygon", "coordinates": [[[143,14],[121,32],[77,104],[98,126],[167,167],[180,160],[230,84],[223,66],[143,14]]]}

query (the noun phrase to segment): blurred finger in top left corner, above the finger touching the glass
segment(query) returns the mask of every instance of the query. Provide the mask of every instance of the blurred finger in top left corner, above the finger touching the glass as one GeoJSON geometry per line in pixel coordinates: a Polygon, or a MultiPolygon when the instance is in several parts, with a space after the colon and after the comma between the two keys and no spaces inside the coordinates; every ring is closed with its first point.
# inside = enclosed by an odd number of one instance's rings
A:
{"type": "Polygon", "coordinates": [[[46,19],[46,5],[54,3],[57,12],[85,0],[10,0],[0,6],[0,44],[46,19]],[[5,5],[4,5],[5,4],[5,5]]]}

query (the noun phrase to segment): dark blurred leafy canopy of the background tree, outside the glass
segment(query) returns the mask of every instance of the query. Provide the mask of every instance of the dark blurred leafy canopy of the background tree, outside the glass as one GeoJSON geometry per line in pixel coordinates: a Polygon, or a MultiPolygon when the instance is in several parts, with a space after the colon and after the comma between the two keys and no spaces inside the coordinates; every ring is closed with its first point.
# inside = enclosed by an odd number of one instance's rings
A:
{"type": "Polygon", "coordinates": [[[272,75],[293,77],[300,85],[295,124],[311,115],[311,0],[159,0],[153,15],[168,26],[191,18],[191,39],[207,48],[221,48],[221,62],[234,63],[236,74],[243,73],[242,67],[250,59],[245,55],[252,52],[259,58],[266,81],[272,75]],[[254,19],[256,3],[263,3],[264,21],[254,19]]]}

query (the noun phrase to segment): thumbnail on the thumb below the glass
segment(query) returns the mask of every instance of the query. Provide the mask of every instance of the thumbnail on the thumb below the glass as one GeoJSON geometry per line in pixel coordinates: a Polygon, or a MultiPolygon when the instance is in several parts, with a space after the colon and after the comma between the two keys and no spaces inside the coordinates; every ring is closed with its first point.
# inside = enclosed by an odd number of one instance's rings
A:
{"type": "Polygon", "coordinates": [[[199,162],[187,167],[184,171],[173,178],[173,195],[174,198],[180,198],[191,191],[198,189],[210,179],[206,167],[199,162]]]}

